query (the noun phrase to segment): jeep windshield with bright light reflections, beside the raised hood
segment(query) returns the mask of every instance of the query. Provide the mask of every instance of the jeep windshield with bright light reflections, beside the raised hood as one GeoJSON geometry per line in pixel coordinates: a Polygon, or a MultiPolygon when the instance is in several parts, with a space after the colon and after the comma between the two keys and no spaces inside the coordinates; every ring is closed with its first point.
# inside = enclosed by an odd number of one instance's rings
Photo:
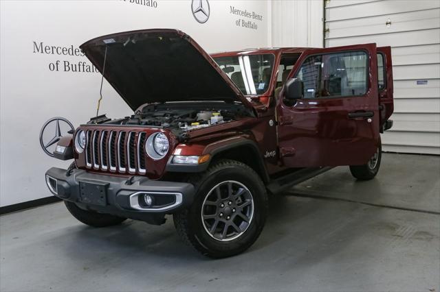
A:
{"type": "Polygon", "coordinates": [[[216,57],[214,61],[244,95],[262,95],[269,88],[275,56],[243,55],[216,57]]]}

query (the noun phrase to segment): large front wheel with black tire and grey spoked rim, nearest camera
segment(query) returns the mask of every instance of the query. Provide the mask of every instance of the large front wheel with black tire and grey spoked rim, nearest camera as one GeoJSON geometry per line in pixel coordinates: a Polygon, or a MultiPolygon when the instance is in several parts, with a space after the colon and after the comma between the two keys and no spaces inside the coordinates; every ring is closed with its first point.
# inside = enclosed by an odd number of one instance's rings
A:
{"type": "Polygon", "coordinates": [[[179,235],[201,254],[225,258],[258,239],[267,215],[267,193],[259,175],[235,160],[219,160],[190,179],[192,205],[173,215],[179,235]]]}

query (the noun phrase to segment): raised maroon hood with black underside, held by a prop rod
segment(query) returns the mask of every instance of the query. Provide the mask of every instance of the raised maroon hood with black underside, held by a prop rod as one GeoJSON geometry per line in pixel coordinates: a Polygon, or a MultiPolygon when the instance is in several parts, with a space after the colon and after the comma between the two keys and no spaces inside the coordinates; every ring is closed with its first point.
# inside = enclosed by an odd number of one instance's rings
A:
{"type": "Polygon", "coordinates": [[[133,110],[155,102],[199,100],[241,101],[252,108],[208,53],[179,30],[120,32],[80,48],[133,110]]]}

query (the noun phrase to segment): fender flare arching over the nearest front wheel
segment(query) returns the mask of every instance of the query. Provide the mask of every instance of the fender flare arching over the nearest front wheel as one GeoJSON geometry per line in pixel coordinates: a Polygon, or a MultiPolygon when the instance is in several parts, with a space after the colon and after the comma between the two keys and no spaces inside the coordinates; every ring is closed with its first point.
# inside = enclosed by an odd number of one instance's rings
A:
{"type": "MultiPolygon", "coordinates": [[[[188,147],[188,145],[185,145],[188,147]]],[[[206,155],[210,154],[210,158],[207,162],[202,163],[201,165],[175,165],[171,163],[173,160],[173,156],[170,156],[168,162],[166,164],[166,171],[168,172],[187,172],[187,173],[197,173],[206,171],[208,169],[212,160],[218,158],[221,154],[224,154],[226,151],[236,149],[239,147],[248,147],[250,151],[252,151],[252,155],[255,156],[254,162],[256,162],[255,171],[261,175],[261,178],[264,182],[269,182],[269,174],[267,173],[267,169],[263,160],[263,156],[259,151],[258,146],[254,141],[250,138],[246,138],[245,136],[233,136],[230,138],[225,138],[223,140],[215,141],[203,147],[203,145],[192,145],[193,149],[202,150],[198,154],[194,155],[206,155]]]]}

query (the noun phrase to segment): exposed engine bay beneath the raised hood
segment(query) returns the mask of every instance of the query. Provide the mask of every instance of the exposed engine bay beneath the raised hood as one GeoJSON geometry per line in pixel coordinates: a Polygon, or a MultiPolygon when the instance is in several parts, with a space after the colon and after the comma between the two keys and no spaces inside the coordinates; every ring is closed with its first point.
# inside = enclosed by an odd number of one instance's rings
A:
{"type": "Polygon", "coordinates": [[[148,104],[142,110],[137,110],[131,117],[107,120],[103,124],[163,127],[186,132],[234,121],[241,117],[250,117],[250,115],[252,112],[241,104],[172,102],[148,104]]]}

